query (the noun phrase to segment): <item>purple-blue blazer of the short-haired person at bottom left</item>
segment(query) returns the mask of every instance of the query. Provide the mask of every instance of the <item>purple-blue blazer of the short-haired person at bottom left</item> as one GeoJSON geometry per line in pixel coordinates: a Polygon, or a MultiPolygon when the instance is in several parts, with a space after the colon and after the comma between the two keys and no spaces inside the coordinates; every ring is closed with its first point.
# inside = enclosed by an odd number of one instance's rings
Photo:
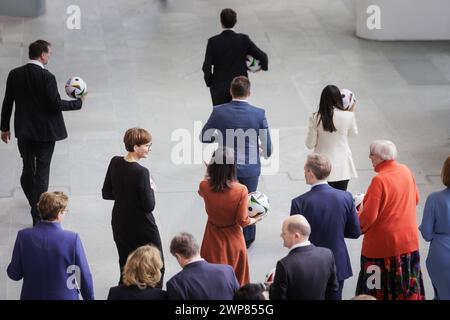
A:
{"type": "Polygon", "coordinates": [[[94,299],[80,237],[57,222],[19,231],[7,272],[12,280],[23,279],[22,300],[78,300],[77,287],[83,299],[94,299]]]}

